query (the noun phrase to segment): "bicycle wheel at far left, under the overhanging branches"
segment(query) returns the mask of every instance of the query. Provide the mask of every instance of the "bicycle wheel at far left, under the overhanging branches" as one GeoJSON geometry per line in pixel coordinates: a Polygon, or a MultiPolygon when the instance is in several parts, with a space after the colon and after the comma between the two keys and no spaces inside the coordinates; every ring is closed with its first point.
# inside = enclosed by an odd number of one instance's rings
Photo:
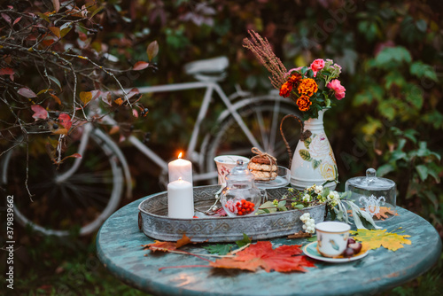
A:
{"type": "MultiPolygon", "coordinates": [[[[71,155],[78,149],[81,136],[68,136],[66,140],[64,155],[71,155]]],[[[27,183],[33,201],[25,186],[27,145],[19,144],[6,152],[2,182],[7,194],[14,196],[15,219],[45,235],[66,236],[76,230],[87,235],[97,230],[119,206],[123,191],[120,161],[109,141],[105,134],[93,129],[80,166],[58,181],[76,160],[67,159],[57,167],[46,152],[51,139],[30,137],[27,183]]]]}

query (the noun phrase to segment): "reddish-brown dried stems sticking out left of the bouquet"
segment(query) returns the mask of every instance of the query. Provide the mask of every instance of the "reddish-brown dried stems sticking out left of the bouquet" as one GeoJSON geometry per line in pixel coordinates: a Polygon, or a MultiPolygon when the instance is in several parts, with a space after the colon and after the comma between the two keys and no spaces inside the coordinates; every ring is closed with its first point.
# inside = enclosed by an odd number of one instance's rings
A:
{"type": "Polygon", "coordinates": [[[283,65],[280,58],[276,57],[274,51],[272,51],[268,39],[263,39],[253,30],[249,30],[248,33],[251,35],[251,40],[245,38],[243,40],[243,46],[248,50],[253,51],[255,57],[257,57],[260,60],[260,63],[272,74],[272,76],[269,76],[272,86],[275,87],[276,90],[280,90],[284,82],[286,82],[286,67],[283,65]]]}

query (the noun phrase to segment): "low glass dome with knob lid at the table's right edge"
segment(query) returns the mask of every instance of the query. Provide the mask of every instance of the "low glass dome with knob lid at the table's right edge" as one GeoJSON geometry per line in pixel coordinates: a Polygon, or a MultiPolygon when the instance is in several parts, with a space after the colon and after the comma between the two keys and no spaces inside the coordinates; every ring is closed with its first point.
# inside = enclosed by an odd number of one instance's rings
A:
{"type": "Polygon", "coordinates": [[[396,215],[396,186],[392,180],[377,177],[374,168],[366,170],[366,176],[357,176],[346,181],[349,199],[368,212],[372,219],[381,221],[396,215]]]}

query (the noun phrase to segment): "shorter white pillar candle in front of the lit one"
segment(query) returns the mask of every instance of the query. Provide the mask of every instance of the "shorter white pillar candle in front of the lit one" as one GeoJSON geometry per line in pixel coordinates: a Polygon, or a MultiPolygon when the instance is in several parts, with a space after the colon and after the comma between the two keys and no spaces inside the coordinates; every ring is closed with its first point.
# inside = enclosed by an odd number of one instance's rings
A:
{"type": "Polygon", "coordinates": [[[187,219],[194,216],[192,184],[182,178],[167,184],[167,216],[187,219]]]}

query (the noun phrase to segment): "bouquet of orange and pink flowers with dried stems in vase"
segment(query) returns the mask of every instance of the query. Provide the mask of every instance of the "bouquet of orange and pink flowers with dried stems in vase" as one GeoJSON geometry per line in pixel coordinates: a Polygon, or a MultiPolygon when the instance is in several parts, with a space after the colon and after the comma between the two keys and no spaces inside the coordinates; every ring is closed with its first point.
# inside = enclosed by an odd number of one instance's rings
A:
{"type": "Polygon", "coordinates": [[[346,89],[338,76],[341,66],[331,59],[315,59],[312,64],[286,70],[280,58],[277,58],[268,40],[258,33],[249,31],[251,39],[244,39],[244,47],[253,51],[272,74],[269,79],[280,96],[291,97],[303,114],[303,120],[317,118],[318,112],[334,105],[334,97],[341,100],[346,89]]]}

